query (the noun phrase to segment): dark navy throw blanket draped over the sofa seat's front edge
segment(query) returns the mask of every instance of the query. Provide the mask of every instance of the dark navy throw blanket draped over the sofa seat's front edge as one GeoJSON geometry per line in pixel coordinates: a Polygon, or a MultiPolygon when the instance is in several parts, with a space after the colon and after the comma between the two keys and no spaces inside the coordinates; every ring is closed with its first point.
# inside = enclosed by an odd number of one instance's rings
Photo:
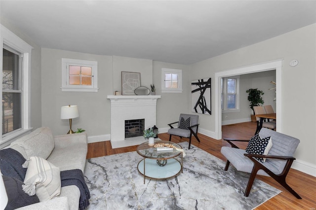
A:
{"type": "Polygon", "coordinates": [[[83,173],[79,169],[61,171],[60,172],[61,186],[76,185],[80,190],[79,210],[87,208],[90,198],[90,192],[83,177],[83,173]]]}

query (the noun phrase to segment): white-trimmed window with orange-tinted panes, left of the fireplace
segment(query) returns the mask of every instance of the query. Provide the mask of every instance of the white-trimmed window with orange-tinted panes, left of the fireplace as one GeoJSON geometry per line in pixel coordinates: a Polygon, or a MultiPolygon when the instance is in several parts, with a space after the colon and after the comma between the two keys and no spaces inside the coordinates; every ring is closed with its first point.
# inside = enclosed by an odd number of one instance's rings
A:
{"type": "Polygon", "coordinates": [[[98,62],[62,58],[62,91],[97,92],[98,62]]]}

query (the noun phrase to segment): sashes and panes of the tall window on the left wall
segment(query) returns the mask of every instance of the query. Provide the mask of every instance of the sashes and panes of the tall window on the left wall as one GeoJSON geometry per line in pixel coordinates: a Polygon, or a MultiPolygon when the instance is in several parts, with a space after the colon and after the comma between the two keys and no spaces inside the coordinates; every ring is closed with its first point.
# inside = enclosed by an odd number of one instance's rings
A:
{"type": "Polygon", "coordinates": [[[2,135],[22,128],[22,55],[3,45],[2,135]]]}

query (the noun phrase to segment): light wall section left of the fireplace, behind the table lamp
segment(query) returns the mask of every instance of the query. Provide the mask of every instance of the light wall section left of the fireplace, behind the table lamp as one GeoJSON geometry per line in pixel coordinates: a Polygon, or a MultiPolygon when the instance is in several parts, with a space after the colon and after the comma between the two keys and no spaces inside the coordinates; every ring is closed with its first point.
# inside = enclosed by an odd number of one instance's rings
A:
{"type": "Polygon", "coordinates": [[[92,55],[64,50],[41,50],[42,126],[54,135],[66,134],[69,121],[60,119],[60,107],[78,105],[79,118],[73,119],[73,130],[85,129],[88,136],[110,134],[110,100],[113,95],[112,56],[92,55]],[[98,62],[98,92],[62,92],[61,59],[82,59],[98,62]]]}

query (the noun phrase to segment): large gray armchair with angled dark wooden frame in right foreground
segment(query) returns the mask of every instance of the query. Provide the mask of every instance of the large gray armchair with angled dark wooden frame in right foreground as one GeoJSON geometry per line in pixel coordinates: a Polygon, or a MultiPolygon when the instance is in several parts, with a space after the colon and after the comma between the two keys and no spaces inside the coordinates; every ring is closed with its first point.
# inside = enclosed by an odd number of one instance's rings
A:
{"type": "Polygon", "coordinates": [[[274,178],[285,189],[292,193],[297,199],[302,199],[287,183],[286,175],[288,174],[291,165],[295,158],[294,152],[300,140],[278,133],[276,131],[262,128],[259,132],[261,138],[271,137],[272,147],[268,155],[248,154],[244,149],[238,148],[233,141],[249,141],[249,140],[227,140],[232,147],[223,146],[221,153],[227,158],[225,171],[228,170],[230,163],[237,169],[250,173],[248,184],[244,196],[248,197],[253,181],[256,175],[266,175],[274,178]],[[264,163],[257,160],[257,158],[267,158],[264,163]]]}

